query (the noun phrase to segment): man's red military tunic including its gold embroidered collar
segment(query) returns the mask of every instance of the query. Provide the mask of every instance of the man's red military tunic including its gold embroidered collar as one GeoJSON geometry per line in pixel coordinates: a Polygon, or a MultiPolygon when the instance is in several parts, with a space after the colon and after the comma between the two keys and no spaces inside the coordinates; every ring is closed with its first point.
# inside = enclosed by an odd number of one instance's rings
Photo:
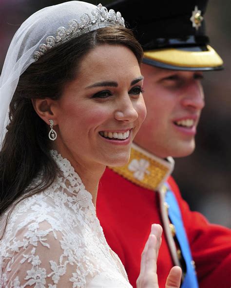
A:
{"type": "Polygon", "coordinates": [[[199,287],[228,288],[231,286],[231,231],[212,225],[201,214],[190,211],[173,178],[169,177],[172,169],[171,162],[157,159],[136,145],[133,146],[128,165],[116,168],[116,172],[106,169],[97,196],[97,216],[106,239],[124,264],[130,283],[136,287],[141,252],[151,224],[161,224],[165,232],[157,261],[157,274],[159,287],[165,288],[167,275],[173,265],[177,264],[175,255],[180,257],[180,251],[177,251],[173,238],[169,236],[170,228],[173,227],[164,221],[163,211],[166,209],[161,207],[160,191],[168,179],[180,207],[199,287]]]}

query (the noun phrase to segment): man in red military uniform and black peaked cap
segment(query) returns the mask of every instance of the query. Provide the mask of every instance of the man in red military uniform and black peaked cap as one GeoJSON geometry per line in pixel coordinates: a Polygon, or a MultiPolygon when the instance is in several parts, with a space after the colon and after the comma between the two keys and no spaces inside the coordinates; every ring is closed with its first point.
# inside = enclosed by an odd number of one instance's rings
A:
{"type": "Polygon", "coordinates": [[[229,229],[190,211],[171,173],[172,157],[194,150],[204,107],[203,72],[222,69],[205,34],[207,0],[120,0],[120,11],[144,48],[141,74],[147,117],[125,167],[101,179],[97,215],[133,287],[152,223],[163,226],[157,272],[160,288],[173,265],[183,270],[182,288],[230,287],[229,229]],[[172,157],[171,157],[172,156],[172,157]],[[197,274],[197,275],[196,275],[197,274]]]}

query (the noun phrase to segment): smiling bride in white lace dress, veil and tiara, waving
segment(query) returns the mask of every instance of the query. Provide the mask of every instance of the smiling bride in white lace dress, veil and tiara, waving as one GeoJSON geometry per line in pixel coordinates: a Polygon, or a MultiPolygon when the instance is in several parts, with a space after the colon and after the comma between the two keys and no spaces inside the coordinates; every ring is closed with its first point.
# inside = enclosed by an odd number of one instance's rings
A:
{"type": "MultiPolygon", "coordinates": [[[[0,79],[0,287],[131,287],[95,205],[146,115],[141,59],[120,13],[100,4],[46,7],[17,31],[0,79]]],[[[139,288],[158,287],[161,233],[154,224],[139,288]]],[[[173,267],[166,287],[180,277],[173,267]]]]}

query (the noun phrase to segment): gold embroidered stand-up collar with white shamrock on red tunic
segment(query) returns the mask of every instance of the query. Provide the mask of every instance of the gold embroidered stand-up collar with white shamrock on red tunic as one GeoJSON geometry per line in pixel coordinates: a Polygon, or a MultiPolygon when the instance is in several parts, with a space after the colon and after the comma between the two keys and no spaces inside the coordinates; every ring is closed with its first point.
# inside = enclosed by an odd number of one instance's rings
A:
{"type": "Polygon", "coordinates": [[[110,169],[141,187],[156,191],[171,175],[173,167],[172,157],[161,159],[133,143],[128,164],[110,169]]]}

